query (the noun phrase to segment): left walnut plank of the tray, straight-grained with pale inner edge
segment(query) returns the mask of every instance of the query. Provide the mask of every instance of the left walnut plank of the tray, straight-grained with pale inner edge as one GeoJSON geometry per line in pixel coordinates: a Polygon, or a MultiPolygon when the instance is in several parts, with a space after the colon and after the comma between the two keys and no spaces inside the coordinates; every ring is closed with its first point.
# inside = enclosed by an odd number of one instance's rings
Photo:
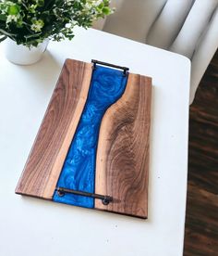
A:
{"type": "Polygon", "coordinates": [[[16,193],[52,199],[91,83],[91,64],[67,59],[16,193]],[[71,71],[73,70],[73,71],[71,71]]]}

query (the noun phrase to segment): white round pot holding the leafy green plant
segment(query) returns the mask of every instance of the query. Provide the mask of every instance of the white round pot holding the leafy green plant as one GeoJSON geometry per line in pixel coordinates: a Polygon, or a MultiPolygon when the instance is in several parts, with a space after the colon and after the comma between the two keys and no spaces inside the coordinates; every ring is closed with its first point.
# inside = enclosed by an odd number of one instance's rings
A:
{"type": "Polygon", "coordinates": [[[5,42],[6,58],[10,62],[18,65],[31,65],[42,58],[42,55],[45,52],[48,43],[49,40],[46,39],[37,47],[31,46],[29,48],[24,45],[17,45],[15,41],[7,38],[5,42]]]}

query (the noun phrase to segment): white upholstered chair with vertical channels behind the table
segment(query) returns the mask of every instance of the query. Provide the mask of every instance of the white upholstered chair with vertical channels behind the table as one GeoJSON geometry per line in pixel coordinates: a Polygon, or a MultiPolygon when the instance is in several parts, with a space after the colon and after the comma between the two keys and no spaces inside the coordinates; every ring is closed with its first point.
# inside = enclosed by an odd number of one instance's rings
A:
{"type": "Polygon", "coordinates": [[[112,0],[115,13],[93,27],[191,60],[190,104],[218,47],[218,0],[112,0]]]}

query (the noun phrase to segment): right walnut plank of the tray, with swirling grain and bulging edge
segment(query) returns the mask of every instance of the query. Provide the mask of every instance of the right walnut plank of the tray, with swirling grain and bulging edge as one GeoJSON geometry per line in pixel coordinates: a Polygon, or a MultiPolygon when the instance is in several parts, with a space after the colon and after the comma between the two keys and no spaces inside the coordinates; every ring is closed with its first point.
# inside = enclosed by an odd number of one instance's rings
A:
{"type": "Polygon", "coordinates": [[[95,208],[147,218],[151,78],[129,74],[123,96],[103,116],[95,193],[114,198],[95,208]]]}

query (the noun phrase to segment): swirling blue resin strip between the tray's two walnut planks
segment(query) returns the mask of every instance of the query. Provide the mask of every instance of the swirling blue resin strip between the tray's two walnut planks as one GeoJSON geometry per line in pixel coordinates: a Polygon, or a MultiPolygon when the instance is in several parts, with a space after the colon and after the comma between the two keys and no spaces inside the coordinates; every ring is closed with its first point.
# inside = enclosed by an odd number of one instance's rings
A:
{"type": "MultiPolygon", "coordinates": [[[[57,186],[94,193],[95,161],[103,114],[122,96],[127,84],[123,71],[96,66],[92,72],[89,95],[79,125],[67,152],[57,186]]],[[[54,201],[86,208],[94,207],[94,199],[73,194],[54,201]]]]}

